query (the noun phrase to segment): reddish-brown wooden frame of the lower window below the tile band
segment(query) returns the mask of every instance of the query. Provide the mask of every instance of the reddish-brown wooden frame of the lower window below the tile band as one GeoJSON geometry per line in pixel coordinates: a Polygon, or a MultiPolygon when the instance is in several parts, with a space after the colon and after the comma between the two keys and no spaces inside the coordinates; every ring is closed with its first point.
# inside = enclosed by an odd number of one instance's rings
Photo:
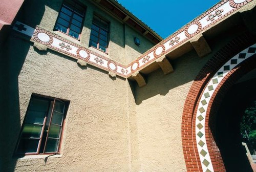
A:
{"type": "MultiPolygon", "coordinates": [[[[63,131],[64,131],[64,128],[65,128],[66,115],[67,115],[69,103],[70,103],[70,101],[68,101],[68,100],[62,100],[62,99],[58,99],[58,98],[55,98],[55,97],[49,97],[49,96],[38,95],[38,94],[34,94],[33,93],[31,95],[30,103],[29,103],[29,106],[28,106],[27,112],[26,112],[26,116],[24,118],[24,122],[23,122],[22,128],[20,130],[18,142],[17,142],[16,149],[15,149],[15,154],[16,155],[53,155],[53,154],[60,154],[61,142],[62,142],[62,139],[63,139],[63,131]],[[29,112],[29,108],[30,108],[30,104],[31,104],[32,99],[47,100],[47,101],[49,101],[49,106],[48,106],[47,114],[44,117],[44,122],[42,124],[41,134],[40,134],[40,138],[39,138],[39,141],[38,141],[36,153],[19,153],[18,152],[18,146],[19,146],[20,140],[22,139],[22,132],[23,132],[24,125],[26,124],[25,121],[26,121],[26,118],[28,116],[27,114],[29,112]],[[51,107],[51,102],[52,101],[53,101],[53,105],[51,107]],[[58,138],[59,142],[58,142],[58,145],[57,145],[56,152],[46,152],[46,145],[47,145],[48,138],[49,138],[50,128],[51,128],[52,125],[56,125],[56,124],[51,123],[52,122],[52,117],[53,117],[53,112],[54,112],[54,107],[55,107],[56,101],[59,101],[59,102],[62,102],[63,104],[65,104],[65,107],[63,108],[63,118],[62,118],[61,125],[60,125],[61,128],[60,128],[60,131],[59,131],[60,132],[59,133],[59,138],[58,138]],[[50,110],[51,110],[51,113],[50,113],[50,116],[48,116],[50,110]],[[45,132],[45,126],[46,126],[47,118],[50,118],[50,120],[49,120],[49,127],[48,127],[48,131],[47,131],[46,139],[44,141],[44,147],[41,147],[42,138],[43,138],[42,136],[44,135],[44,132],[45,132]],[[43,148],[42,153],[40,153],[40,149],[41,148],[43,148]]],[[[38,138],[35,138],[35,139],[38,139],[38,138]]]]}

